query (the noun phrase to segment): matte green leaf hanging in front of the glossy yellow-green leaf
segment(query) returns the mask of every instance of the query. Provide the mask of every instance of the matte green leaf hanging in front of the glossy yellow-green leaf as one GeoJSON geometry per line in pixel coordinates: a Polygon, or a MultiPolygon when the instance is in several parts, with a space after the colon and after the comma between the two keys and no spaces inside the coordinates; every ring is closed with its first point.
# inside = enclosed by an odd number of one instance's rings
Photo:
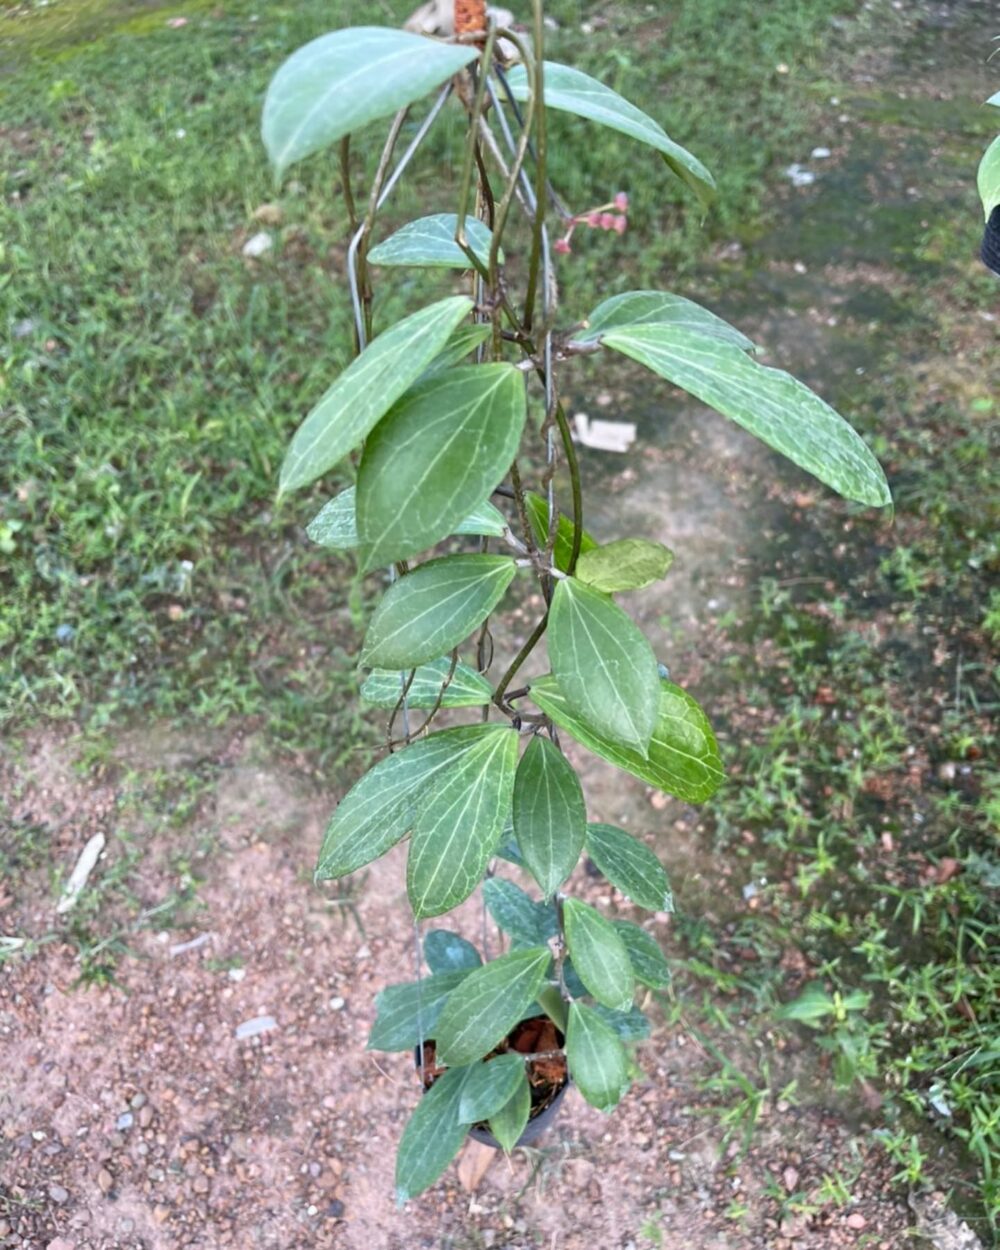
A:
{"type": "Polygon", "coordinates": [[[646,755],[656,724],[659,666],[625,612],[575,578],[555,588],[549,659],[559,689],[596,732],[646,755]]]}

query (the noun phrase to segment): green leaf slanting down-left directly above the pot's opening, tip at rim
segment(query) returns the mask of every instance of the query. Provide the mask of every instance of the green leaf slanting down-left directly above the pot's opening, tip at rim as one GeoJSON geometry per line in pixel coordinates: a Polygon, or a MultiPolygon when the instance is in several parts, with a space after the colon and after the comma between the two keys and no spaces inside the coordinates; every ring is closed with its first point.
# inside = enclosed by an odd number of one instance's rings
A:
{"type": "Polygon", "coordinates": [[[454,1068],[489,1055],[538,998],[550,961],[548,946],[530,946],[469,972],[438,1020],[438,1061],[454,1068]]]}

